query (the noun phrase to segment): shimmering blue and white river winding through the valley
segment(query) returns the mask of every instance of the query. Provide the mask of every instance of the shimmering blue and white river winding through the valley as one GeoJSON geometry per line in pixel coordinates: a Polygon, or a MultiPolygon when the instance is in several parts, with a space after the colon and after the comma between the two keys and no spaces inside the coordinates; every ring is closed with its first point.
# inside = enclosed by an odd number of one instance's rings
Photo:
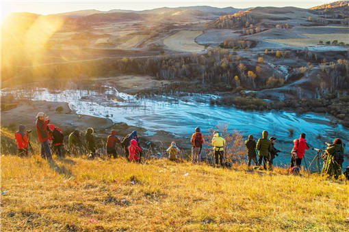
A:
{"type": "MultiPolygon", "coordinates": [[[[5,90],[2,91],[2,94],[4,93],[5,90]]],[[[33,100],[68,102],[70,108],[81,115],[109,117],[116,123],[142,125],[148,130],[148,134],[165,130],[176,136],[189,137],[196,126],[201,127],[205,133],[209,128],[221,123],[228,124],[229,130],[238,130],[244,136],[253,134],[255,138],[259,138],[263,130],[268,130],[269,136],[277,138],[275,147],[287,151],[274,160],[278,165],[289,163],[292,141],[298,138],[301,132],[307,134],[306,139],[311,147],[322,148],[325,141],[331,142],[337,137],[344,143],[349,142],[349,130],[333,123],[328,115],[315,113],[299,115],[287,111],[241,111],[231,107],[211,106],[209,99],[215,96],[210,95],[188,94],[184,98],[182,96],[181,100],[165,96],[138,99],[107,85],[101,87],[99,91],[81,89],[49,91],[42,88],[31,91],[30,96],[21,90],[12,93],[33,100]],[[289,128],[294,130],[293,136],[289,136],[289,128]]],[[[315,151],[309,150],[305,156],[309,164],[315,156],[315,151]]],[[[344,166],[349,166],[348,155],[344,166]]]]}

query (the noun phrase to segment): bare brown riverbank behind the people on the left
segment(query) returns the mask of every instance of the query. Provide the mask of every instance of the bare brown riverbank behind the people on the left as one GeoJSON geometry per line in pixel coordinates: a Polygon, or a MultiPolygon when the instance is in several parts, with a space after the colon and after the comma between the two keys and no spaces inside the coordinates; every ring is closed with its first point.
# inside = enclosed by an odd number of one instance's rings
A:
{"type": "MultiPolygon", "coordinates": [[[[51,124],[63,130],[65,141],[68,141],[68,135],[73,130],[79,130],[81,134],[84,134],[87,128],[92,127],[94,128],[94,135],[96,136],[99,147],[104,146],[110,130],[116,130],[116,134],[120,140],[133,130],[137,130],[142,138],[140,140],[142,147],[159,149],[160,147],[168,147],[172,141],[176,141],[180,148],[190,149],[190,143],[188,143],[186,138],[174,136],[174,134],[164,130],[149,132],[145,128],[142,128],[142,126],[129,126],[122,122],[114,123],[108,118],[80,115],[72,111],[67,102],[14,100],[12,104],[13,108],[1,111],[1,127],[8,128],[11,134],[18,130],[19,124],[23,124],[26,126],[26,130],[34,131],[30,136],[35,141],[37,138],[35,128],[36,114],[38,112],[44,112],[50,117],[51,124]]],[[[15,143],[11,144],[8,150],[15,154],[16,145],[15,143]]]]}

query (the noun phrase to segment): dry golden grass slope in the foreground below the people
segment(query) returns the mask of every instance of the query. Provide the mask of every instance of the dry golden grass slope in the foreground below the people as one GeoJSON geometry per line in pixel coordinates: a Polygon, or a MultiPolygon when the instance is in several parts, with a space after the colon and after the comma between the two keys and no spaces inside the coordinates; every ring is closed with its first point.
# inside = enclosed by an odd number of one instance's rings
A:
{"type": "Polygon", "coordinates": [[[348,184],[318,175],[54,160],[1,157],[3,231],[349,230],[348,184]]]}

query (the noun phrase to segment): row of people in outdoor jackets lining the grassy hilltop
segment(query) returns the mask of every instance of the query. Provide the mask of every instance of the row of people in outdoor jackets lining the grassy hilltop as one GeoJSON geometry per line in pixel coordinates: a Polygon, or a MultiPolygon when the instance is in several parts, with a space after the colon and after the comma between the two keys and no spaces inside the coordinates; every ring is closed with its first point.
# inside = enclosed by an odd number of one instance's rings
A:
{"type": "MultiPolygon", "coordinates": [[[[56,151],[57,156],[63,157],[67,149],[64,147],[64,135],[60,128],[50,124],[50,119],[47,115],[40,112],[36,116],[36,132],[38,134],[38,141],[41,144],[41,156],[42,158],[51,159],[51,151],[56,151]]],[[[15,137],[18,146],[18,154],[27,156],[29,131],[25,131],[25,126],[20,125],[15,137]]],[[[93,159],[96,156],[96,143],[94,138],[93,128],[88,128],[85,134],[86,148],[88,149],[88,158],[93,159]]],[[[255,138],[252,134],[248,136],[245,141],[246,153],[248,158],[248,167],[251,166],[251,162],[255,162],[256,167],[261,169],[270,170],[273,169],[273,160],[276,156],[279,156],[281,150],[274,147],[276,141],[275,137],[268,139],[268,132],[264,130],[262,132],[262,138],[255,142],[255,138]],[[257,155],[258,153],[258,155],[257,155]],[[262,165],[263,162],[263,165],[262,165]]],[[[200,128],[195,128],[194,134],[190,139],[192,144],[192,163],[201,162],[201,150],[205,143],[203,134],[201,134],[200,128]]],[[[140,162],[142,156],[142,148],[138,144],[138,134],[136,131],[127,134],[122,140],[116,136],[116,131],[111,130],[105,145],[105,153],[109,158],[116,158],[119,154],[117,151],[118,145],[124,149],[125,154],[129,161],[140,162]]],[[[224,151],[227,148],[225,139],[219,132],[214,132],[211,145],[214,149],[214,159],[217,166],[227,165],[227,161],[224,162],[224,151]]],[[[332,144],[327,144],[328,147],[324,151],[322,158],[324,159],[324,166],[322,172],[339,177],[341,175],[341,166],[344,162],[344,145],[341,139],[335,139],[332,144]]],[[[71,154],[81,155],[84,147],[81,141],[81,135],[78,130],[71,132],[68,136],[68,147],[71,154]]],[[[302,159],[304,158],[305,150],[310,149],[305,139],[305,133],[300,134],[299,139],[294,140],[294,147],[291,151],[290,171],[296,171],[300,169],[302,159]]],[[[172,142],[170,147],[166,149],[168,152],[168,158],[172,161],[178,160],[179,152],[181,150],[177,147],[175,142],[172,142]]],[[[349,169],[347,168],[345,175],[349,175],[349,169]]]]}

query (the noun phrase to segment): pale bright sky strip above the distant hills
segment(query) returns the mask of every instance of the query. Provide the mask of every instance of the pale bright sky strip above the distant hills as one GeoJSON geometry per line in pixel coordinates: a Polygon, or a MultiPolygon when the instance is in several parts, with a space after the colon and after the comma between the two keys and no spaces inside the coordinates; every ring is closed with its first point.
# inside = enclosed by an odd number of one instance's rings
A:
{"type": "MultiPolygon", "coordinates": [[[[335,1],[335,0],[333,0],[335,1]]],[[[1,0],[1,18],[5,17],[10,12],[31,12],[36,14],[57,14],[62,12],[73,12],[76,10],[150,10],[154,8],[174,8],[179,6],[191,5],[210,5],[218,8],[233,7],[233,8],[254,8],[257,6],[295,6],[298,8],[311,8],[315,5],[322,5],[332,1],[318,0],[254,0],[254,1],[207,1],[207,0],[192,0],[192,1],[144,1],[144,0],[127,0],[127,1],[62,1],[62,0],[46,0],[46,1],[6,1],[1,0]]]]}

